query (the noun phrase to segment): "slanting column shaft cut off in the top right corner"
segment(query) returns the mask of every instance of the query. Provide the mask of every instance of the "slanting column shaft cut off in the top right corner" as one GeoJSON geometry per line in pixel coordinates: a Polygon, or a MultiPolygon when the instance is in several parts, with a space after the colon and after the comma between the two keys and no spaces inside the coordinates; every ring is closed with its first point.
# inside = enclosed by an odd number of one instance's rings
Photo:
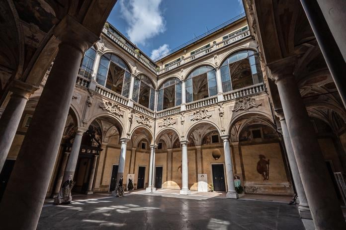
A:
{"type": "Polygon", "coordinates": [[[300,1],[346,108],[346,25],[342,23],[346,3],[340,0],[300,1]],[[340,23],[334,24],[334,21],[340,23]]]}

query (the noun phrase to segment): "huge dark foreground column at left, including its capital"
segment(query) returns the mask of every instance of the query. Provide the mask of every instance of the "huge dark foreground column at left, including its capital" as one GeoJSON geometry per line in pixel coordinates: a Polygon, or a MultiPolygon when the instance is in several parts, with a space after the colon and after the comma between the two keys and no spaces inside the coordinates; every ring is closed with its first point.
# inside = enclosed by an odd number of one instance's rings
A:
{"type": "Polygon", "coordinates": [[[83,52],[98,39],[70,16],[55,32],[62,43],[1,200],[1,229],[36,229],[83,52]]]}

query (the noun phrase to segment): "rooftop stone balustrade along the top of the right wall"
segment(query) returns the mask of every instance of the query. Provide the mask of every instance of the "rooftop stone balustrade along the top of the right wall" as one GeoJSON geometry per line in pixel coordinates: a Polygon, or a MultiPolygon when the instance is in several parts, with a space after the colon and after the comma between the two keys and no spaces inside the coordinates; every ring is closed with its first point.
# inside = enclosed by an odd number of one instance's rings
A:
{"type": "Polygon", "coordinates": [[[226,39],[226,40],[223,40],[221,42],[218,42],[218,43],[215,43],[213,44],[212,47],[208,47],[208,48],[205,48],[205,49],[202,49],[196,53],[194,53],[193,55],[190,55],[188,57],[185,57],[184,59],[180,60],[180,61],[177,61],[177,62],[174,62],[172,63],[171,65],[161,69],[159,71],[159,74],[163,74],[163,73],[166,73],[170,70],[173,70],[175,69],[176,67],[182,65],[182,64],[185,64],[185,63],[188,63],[190,61],[193,61],[199,57],[202,57],[202,56],[205,56],[207,55],[208,53],[212,52],[212,51],[216,51],[218,49],[221,49],[227,45],[230,45],[230,44],[233,44],[243,38],[246,38],[246,37],[250,37],[250,30],[245,30],[245,31],[242,31],[242,32],[239,32],[237,34],[234,34],[232,37],[226,39]]]}

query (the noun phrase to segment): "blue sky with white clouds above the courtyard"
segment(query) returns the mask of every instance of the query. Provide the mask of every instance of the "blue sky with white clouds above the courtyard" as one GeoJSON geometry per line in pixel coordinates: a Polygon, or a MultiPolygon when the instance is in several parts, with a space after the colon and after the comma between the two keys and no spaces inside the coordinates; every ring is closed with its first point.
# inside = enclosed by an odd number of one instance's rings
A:
{"type": "Polygon", "coordinates": [[[242,0],[118,0],[108,21],[155,59],[242,12],[242,0]]]}

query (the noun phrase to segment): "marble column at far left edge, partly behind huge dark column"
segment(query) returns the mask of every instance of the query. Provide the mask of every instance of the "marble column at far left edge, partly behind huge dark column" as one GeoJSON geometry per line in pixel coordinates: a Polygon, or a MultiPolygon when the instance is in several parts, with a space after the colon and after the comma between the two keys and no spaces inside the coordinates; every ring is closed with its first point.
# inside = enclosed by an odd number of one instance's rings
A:
{"type": "Polygon", "coordinates": [[[12,92],[0,118],[0,172],[12,145],[26,102],[37,87],[14,80],[12,92]]]}

